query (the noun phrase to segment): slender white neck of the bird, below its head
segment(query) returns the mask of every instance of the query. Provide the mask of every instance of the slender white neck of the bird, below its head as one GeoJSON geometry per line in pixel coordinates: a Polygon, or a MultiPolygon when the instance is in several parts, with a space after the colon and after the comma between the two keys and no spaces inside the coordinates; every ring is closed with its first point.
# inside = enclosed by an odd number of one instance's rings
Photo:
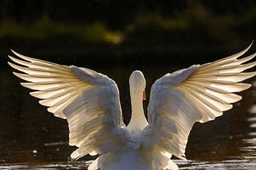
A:
{"type": "Polygon", "coordinates": [[[131,86],[130,95],[132,103],[132,118],[129,122],[128,128],[132,130],[143,130],[148,123],[143,110],[142,91],[133,91],[131,86]]]}

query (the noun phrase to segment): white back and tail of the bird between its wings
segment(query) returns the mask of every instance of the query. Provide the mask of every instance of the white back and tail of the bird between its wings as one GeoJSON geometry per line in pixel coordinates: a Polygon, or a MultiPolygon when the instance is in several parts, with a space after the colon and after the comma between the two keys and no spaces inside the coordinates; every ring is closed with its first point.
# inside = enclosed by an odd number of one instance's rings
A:
{"type": "Polygon", "coordinates": [[[176,170],[178,166],[161,152],[149,152],[142,147],[143,135],[142,130],[129,129],[129,137],[126,145],[118,151],[102,154],[92,165],[89,170],[154,170],[154,169],[171,169],[176,170]],[[161,164],[156,164],[156,162],[161,164]]]}

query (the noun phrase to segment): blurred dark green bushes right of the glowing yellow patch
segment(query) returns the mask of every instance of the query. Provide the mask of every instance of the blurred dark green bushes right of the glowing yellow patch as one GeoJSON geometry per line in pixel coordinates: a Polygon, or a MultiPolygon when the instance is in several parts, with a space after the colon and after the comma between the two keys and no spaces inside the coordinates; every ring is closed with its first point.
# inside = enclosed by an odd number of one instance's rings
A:
{"type": "Polygon", "coordinates": [[[250,8],[242,16],[233,13],[215,16],[204,6],[198,5],[183,11],[176,18],[164,18],[159,14],[139,16],[128,27],[124,42],[142,42],[153,45],[193,45],[238,43],[255,38],[256,8],[250,8]],[[134,41],[134,39],[136,41],[134,41]]]}

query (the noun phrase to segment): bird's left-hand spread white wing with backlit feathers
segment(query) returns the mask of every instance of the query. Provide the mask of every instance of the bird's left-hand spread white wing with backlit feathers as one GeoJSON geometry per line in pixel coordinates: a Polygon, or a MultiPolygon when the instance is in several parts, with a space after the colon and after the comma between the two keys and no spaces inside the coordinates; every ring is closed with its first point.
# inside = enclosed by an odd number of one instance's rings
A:
{"type": "MultiPolygon", "coordinates": [[[[14,52],[14,51],[13,51],[14,52]]],[[[108,153],[124,145],[127,137],[122,121],[117,84],[90,69],[33,59],[14,52],[9,65],[25,74],[14,74],[32,96],[55,116],[68,120],[70,145],[78,147],[73,160],[86,154],[108,153]]]]}

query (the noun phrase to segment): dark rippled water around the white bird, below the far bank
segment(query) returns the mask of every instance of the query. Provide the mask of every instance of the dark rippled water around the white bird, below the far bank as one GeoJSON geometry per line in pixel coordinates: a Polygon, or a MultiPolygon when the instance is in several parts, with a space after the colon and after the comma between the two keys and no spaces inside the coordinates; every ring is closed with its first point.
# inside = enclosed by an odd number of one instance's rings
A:
{"type": "MultiPolygon", "coordinates": [[[[68,61],[54,61],[63,64],[68,61]]],[[[53,59],[54,60],[54,59],[53,59]]],[[[53,61],[52,60],[52,61],[53,61]]],[[[114,79],[120,91],[124,122],[129,122],[129,74],[134,69],[144,72],[149,96],[151,84],[156,79],[176,69],[188,67],[193,62],[169,64],[134,60],[135,64],[102,64],[82,60],[86,66],[114,79]]],[[[6,62],[3,62],[6,63],[6,62]]],[[[0,169],[87,169],[95,157],[84,157],[80,162],[68,163],[68,156],[75,147],[68,146],[68,124],[55,118],[28,95],[19,79],[11,74],[12,69],[4,64],[0,69],[0,169]],[[89,162],[88,162],[89,161],[89,162]]],[[[240,93],[242,101],[234,104],[220,118],[209,123],[196,123],[191,131],[186,148],[188,161],[175,159],[180,169],[256,169],[256,81],[253,86],[240,93]]],[[[144,103],[144,109],[149,100],[144,103]]]]}

